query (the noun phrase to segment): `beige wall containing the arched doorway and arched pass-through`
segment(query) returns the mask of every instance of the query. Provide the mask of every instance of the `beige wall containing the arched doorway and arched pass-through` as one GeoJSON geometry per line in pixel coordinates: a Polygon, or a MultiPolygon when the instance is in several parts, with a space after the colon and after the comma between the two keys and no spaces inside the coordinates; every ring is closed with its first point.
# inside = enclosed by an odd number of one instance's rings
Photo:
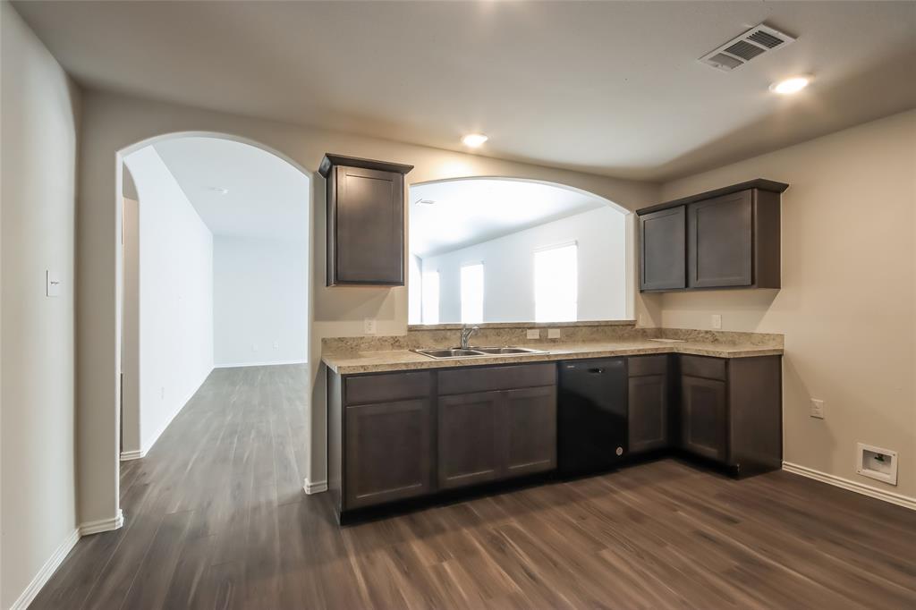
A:
{"type": "MultiPolygon", "coordinates": [[[[317,174],[325,152],[379,158],[416,166],[408,182],[467,176],[507,176],[548,180],[591,191],[633,210],[658,200],[655,185],[561,169],[465,155],[386,140],[308,129],[219,114],[169,103],[154,103],[110,93],[84,95],[81,149],[78,319],[81,380],[79,488],[82,520],[112,518],[117,507],[116,430],[118,231],[115,157],[119,150],[150,137],[187,131],[230,134],[278,151],[311,174],[312,316],[310,363],[315,390],[311,412],[309,478],[324,479],[324,402],[318,362],[324,336],[356,335],[363,319],[374,317],[378,332],[406,332],[407,289],[324,287],[324,181],[317,174]]],[[[632,228],[632,227],[630,227],[632,228]]],[[[636,314],[649,324],[658,319],[657,302],[637,298],[636,314]]],[[[129,517],[129,516],[128,516],[129,517]]]]}

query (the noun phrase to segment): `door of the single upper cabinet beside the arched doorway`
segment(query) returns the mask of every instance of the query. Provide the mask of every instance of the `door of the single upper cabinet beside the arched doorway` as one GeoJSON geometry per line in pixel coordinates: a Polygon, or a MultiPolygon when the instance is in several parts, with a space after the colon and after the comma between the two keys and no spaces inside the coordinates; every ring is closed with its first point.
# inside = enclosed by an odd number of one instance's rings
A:
{"type": "Polygon", "coordinates": [[[335,168],[334,284],[404,284],[404,176],[335,168]]]}

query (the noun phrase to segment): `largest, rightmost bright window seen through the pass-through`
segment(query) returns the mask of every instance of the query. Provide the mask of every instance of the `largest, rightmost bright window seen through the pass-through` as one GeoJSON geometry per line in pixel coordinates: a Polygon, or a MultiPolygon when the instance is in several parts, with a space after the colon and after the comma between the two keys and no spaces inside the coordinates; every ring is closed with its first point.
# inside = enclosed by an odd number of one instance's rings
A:
{"type": "Polygon", "coordinates": [[[534,253],[534,321],[575,321],[579,300],[578,246],[534,253]]]}

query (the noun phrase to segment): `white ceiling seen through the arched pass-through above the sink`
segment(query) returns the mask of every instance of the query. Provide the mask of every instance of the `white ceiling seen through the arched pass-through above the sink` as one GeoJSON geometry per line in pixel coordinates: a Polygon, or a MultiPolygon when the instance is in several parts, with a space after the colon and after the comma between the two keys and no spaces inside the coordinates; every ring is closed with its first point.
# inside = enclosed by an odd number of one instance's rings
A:
{"type": "Polygon", "coordinates": [[[409,203],[410,254],[420,258],[609,205],[589,193],[505,179],[418,184],[409,203]]]}

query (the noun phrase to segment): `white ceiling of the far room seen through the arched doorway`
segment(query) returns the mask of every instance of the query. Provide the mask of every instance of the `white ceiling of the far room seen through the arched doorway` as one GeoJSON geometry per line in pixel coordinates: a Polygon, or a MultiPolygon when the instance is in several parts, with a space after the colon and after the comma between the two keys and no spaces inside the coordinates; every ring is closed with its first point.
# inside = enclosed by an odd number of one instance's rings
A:
{"type": "Polygon", "coordinates": [[[214,137],[177,137],[153,147],[214,235],[306,239],[309,179],[286,161],[214,137]]]}

